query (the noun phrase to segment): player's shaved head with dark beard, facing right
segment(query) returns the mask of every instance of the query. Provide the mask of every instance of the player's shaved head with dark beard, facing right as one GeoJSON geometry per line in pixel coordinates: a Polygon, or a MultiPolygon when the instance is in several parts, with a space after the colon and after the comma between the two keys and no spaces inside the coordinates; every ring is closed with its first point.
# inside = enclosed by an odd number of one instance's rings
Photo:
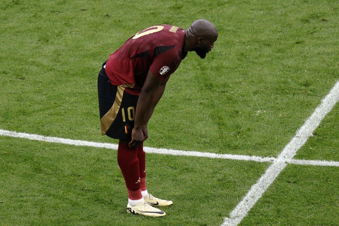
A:
{"type": "Polygon", "coordinates": [[[202,59],[214,47],[218,38],[218,30],[208,20],[196,20],[186,31],[185,51],[195,51],[202,59]]]}

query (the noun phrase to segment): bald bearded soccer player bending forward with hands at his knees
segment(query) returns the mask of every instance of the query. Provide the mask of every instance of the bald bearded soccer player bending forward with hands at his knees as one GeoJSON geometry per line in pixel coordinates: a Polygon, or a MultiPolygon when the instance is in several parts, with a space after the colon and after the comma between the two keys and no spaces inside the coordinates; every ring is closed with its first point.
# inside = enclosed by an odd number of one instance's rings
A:
{"type": "Polygon", "coordinates": [[[129,38],[102,64],[98,96],[102,135],[119,139],[118,164],[128,193],[127,212],[162,217],[158,206],[173,204],[147,192],[145,152],[147,123],[164,93],[169,76],[187,52],[200,58],[214,47],[216,27],[196,20],[183,30],[172,25],[148,27],[129,38]]]}

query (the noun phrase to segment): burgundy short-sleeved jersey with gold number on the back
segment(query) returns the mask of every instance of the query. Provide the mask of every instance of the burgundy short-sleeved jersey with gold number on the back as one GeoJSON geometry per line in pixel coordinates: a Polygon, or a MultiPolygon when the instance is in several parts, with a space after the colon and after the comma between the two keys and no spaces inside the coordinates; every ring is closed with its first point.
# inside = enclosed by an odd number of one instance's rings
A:
{"type": "Polygon", "coordinates": [[[129,38],[109,56],[105,65],[112,85],[128,84],[125,91],[139,95],[148,70],[163,80],[171,75],[187,55],[182,50],[185,30],[172,25],[146,28],[129,38]]]}

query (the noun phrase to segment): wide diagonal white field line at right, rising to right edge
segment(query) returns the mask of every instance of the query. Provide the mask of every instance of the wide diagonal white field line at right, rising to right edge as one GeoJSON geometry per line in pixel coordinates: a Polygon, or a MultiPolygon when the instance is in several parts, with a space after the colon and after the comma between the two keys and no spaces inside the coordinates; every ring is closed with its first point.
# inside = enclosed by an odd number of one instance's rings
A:
{"type": "MultiPolygon", "coordinates": [[[[294,138],[282,150],[272,165],[268,167],[266,172],[259,178],[248,191],[246,196],[235,209],[230,213],[230,218],[225,218],[221,226],[236,226],[247,215],[248,211],[261,198],[262,194],[278,177],[280,172],[286,167],[287,162],[302,163],[302,160],[293,160],[297,150],[305,144],[307,139],[313,135],[313,131],[319,126],[321,120],[332,110],[339,100],[339,81],[331,89],[330,93],[321,101],[321,104],[315,109],[313,114],[306,120],[304,125],[297,131],[294,138]]],[[[308,161],[312,163],[312,161],[308,161]]],[[[314,163],[314,162],[313,162],[314,163]]]]}

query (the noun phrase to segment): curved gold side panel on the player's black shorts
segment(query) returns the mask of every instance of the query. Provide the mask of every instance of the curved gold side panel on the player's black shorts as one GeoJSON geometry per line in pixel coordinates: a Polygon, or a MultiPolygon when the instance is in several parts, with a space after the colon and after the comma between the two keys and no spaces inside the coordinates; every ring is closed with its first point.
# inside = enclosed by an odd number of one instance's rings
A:
{"type": "Polygon", "coordinates": [[[113,121],[117,117],[125,88],[127,88],[127,87],[133,88],[134,85],[135,85],[135,83],[133,83],[133,84],[123,84],[123,85],[118,86],[117,95],[115,96],[113,106],[100,119],[101,135],[106,134],[107,130],[109,129],[109,127],[111,127],[113,121]]]}

